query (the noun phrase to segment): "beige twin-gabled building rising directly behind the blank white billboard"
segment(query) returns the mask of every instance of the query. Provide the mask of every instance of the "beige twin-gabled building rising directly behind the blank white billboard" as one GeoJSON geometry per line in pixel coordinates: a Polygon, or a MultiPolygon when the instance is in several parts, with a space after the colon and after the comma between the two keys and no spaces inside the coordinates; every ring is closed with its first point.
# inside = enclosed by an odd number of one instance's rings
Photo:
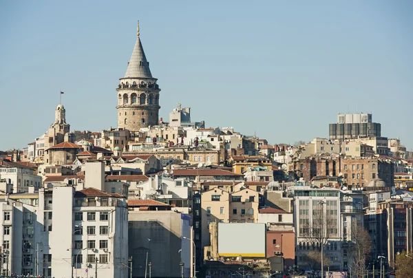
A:
{"type": "Polygon", "coordinates": [[[209,246],[209,224],[257,223],[259,193],[242,189],[229,193],[214,188],[201,194],[202,246],[209,246]]]}

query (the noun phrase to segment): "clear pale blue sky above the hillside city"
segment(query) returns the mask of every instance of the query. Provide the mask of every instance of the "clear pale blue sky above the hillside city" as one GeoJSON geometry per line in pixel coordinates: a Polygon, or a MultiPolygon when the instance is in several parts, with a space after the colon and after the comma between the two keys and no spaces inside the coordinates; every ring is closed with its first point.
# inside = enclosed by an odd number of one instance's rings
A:
{"type": "Polygon", "coordinates": [[[136,41],[162,88],[160,116],[271,144],[328,137],[369,111],[413,147],[413,1],[1,1],[0,149],[47,131],[63,91],[74,130],[116,127],[136,41]]]}

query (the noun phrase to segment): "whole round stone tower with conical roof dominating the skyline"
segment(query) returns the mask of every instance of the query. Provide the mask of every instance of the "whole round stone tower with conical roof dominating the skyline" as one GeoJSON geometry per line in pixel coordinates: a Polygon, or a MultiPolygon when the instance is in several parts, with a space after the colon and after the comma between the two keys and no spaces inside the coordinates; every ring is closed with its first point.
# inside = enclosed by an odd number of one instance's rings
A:
{"type": "Polygon", "coordinates": [[[152,77],[149,62],[140,42],[139,25],[138,38],[134,51],[127,64],[126,74],[120,78],[118,92],[118,127],[129,131],[139,131],[142,127],[158,125],[159,92],[152,77]]]}

